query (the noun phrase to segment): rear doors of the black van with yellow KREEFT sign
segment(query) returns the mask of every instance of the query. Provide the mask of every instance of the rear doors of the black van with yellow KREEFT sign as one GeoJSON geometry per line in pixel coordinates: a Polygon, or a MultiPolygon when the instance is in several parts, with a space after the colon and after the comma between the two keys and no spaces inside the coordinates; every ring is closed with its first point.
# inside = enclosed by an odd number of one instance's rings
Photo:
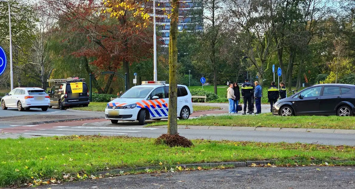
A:
{"type": "Polygon", "coordinates": [[[87,102],[89,100],[87,85],[84,82],[67,83],[67,102],[87,102]]]}

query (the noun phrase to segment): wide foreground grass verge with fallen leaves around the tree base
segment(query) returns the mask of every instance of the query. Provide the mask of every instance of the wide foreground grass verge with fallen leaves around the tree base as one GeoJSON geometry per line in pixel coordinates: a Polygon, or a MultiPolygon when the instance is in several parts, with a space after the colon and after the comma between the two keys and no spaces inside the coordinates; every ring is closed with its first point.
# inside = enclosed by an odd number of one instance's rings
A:
{"type": "MultiPolygon", "coordinates": [[[[277,165],[311,160],[355,160],[355,147],[317,144],[193,140],[191,148],[154,145],[151,138],[66,136],[0,139],[0,187],[113,168],[273,160],[277,165]],[[179,162],[179,163],[178,163],[179,162]]],[[[175,166],[173,166],[175,167],[175,166]]]]}

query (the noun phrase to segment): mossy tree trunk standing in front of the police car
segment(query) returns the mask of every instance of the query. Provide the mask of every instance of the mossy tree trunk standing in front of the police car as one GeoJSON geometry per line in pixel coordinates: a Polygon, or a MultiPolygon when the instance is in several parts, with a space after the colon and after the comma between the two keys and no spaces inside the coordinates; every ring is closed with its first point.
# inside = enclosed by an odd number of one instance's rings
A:
{"type": "Polygon", "coordinates": [[[178,134],[178,20],[179,0],[171,0],[170,42],[169,42],[169,117],[168,134],[178,134]]]}

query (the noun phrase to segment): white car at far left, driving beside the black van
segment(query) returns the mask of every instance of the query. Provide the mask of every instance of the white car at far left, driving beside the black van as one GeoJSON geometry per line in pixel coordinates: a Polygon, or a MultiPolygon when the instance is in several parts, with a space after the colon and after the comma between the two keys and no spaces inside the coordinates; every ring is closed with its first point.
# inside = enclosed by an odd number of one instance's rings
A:
{"type": "Polygon", "coordinates": [[[17,108],[18,111],[23,111],[30,108],[41,108],[43,111],[47,111],[49,106],[48,94],[42,88],[37,87],[18,87],[1,99],[3,110],[17,108]]]}

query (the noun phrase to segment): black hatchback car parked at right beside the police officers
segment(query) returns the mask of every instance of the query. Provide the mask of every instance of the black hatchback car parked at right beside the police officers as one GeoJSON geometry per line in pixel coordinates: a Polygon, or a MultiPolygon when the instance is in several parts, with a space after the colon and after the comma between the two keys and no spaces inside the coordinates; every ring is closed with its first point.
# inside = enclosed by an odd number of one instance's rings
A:
{"type": "Polygon", "coordinates": [[[321,84],[275,103],[273,115],[338,115],[355,113],[355,85],[321,84]]]}

